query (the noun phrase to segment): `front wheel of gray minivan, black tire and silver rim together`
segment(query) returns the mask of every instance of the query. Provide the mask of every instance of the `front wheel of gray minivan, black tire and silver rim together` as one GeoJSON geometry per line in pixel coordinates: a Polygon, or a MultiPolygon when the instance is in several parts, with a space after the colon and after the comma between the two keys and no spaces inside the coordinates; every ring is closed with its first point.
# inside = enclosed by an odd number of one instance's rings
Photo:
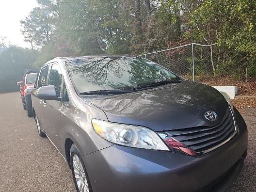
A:
{"type": "Polygon", "coordinates": [[[77,192],[92,192],[88,174],[86,172],[79,150],[75,144],[72,144],[70,148],[70,167],[77,192]]]}

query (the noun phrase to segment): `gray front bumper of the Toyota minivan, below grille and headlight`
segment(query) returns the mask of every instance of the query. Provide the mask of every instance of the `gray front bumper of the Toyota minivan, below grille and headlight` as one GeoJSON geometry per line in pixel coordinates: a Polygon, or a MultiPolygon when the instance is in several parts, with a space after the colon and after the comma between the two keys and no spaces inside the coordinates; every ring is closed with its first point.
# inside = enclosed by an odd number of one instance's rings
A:
{"type": "Polygon", "coordinates": [[[226,189],[240,172],[248,145],[246,125],[236,110],[235,116],[236,136],[200,157],[119,145],[83,156],[93,192],[205,192],[212,187],[215,191],[226,189]],[[226,173],[229,173],[228,178],[226,173]],[[220,178],[222,182],[218,181],[220,178]]]}

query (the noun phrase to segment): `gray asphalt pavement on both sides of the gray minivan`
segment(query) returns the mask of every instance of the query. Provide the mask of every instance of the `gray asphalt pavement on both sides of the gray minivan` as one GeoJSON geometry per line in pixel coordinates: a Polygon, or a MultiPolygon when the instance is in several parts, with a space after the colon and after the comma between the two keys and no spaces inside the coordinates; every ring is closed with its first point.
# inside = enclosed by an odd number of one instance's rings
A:
{"type": "MultiPolygon", "coordinates": [[[[0,94],[0,192],[75,192],[68,165],[38,136],[19,93],[0,94]]],[[[243,114],[249,129],[244,168],[228,192],[256,192],[256,109],[243,114]]]]}

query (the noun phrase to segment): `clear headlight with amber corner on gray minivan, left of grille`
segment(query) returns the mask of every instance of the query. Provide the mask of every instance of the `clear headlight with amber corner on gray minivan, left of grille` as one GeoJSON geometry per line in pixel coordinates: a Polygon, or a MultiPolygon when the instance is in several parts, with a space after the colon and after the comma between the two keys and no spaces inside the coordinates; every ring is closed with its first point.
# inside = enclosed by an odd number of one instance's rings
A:
{"type": "Polygon", "coordinates": [[[111,123],[98,119],[92,120],[94,130],[104,139],[129,147],[166,150],[170,149],[163,143],[159,135],[149,128],[111,123]]]}

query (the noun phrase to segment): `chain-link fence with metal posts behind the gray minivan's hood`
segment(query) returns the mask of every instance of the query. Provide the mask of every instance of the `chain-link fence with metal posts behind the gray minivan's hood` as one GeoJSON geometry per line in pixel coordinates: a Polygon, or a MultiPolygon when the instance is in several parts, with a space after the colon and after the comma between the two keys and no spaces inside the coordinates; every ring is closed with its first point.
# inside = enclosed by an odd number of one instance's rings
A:
{"type": "MultiPolygon", "coordinates": [[[[231,66],[245,63],[243,55],[236,55],[232,50],[212,45],[191,43],[140,55],[154,61],[177,75],[202,82],[209,77],[226,77],[232,71],[231,66]],[[229,67],[228,70],[225,67],[229,67]]],[[[237,73],[237,72],[236,72],[237,73]]]]}

